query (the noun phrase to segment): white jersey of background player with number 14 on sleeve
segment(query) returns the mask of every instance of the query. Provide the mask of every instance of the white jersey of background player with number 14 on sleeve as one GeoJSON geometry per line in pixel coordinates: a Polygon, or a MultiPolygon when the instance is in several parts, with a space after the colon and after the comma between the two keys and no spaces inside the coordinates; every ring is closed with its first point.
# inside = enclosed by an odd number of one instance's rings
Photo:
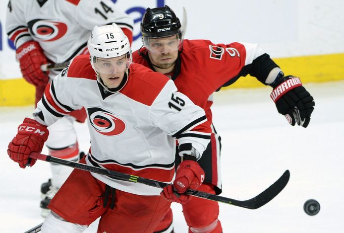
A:
{"type": "Polygon", "coordinates": [[[6,31],[16,48],[35,40],[62,63],[86,51],[95,25],[111,23],[133,31],[132,18],[110,0],[10,0],[6,31]]]}

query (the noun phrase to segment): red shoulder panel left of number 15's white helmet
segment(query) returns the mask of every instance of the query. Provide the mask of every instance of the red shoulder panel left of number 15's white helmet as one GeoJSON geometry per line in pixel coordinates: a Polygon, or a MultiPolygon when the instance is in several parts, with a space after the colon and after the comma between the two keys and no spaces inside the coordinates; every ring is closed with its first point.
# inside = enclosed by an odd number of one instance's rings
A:
{"type": "Polygon", "coordinates": [[[69,65],[67,76],[96,80],[97,77],[90,62],[90,55],[76,56],[69,65]]]}

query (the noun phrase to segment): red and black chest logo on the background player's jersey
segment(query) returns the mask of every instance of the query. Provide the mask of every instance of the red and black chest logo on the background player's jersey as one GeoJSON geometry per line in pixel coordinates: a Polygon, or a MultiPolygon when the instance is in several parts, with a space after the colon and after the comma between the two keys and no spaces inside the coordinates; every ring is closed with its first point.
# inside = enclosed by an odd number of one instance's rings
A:
{"type": "Polygon", "coordinates": [[[28,22],[31,35],[40,41],[55,41],[67,32],[67,25],[58,21],[36,19],[28,22]]]}

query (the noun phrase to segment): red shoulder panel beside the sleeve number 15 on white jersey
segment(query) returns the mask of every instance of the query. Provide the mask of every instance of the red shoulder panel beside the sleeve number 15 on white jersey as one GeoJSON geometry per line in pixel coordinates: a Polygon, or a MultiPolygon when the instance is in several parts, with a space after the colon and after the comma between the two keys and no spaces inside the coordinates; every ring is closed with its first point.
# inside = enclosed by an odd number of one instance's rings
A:
{"type": "Polygon", "coordinates": [[[133,63],[130,66],[128,83],[120,92],[137,102],[151,106],[168,81],[164,74],[133,63]]]}

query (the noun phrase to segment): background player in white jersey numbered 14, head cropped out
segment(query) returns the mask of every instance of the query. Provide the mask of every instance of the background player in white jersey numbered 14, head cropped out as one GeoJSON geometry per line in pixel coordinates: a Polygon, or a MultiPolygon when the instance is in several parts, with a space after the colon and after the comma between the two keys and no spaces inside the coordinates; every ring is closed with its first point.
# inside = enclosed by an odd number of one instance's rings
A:
{"type": "MultiPolygon", "coordinates": [[[[16,57],[24,79],[36,88],[35,104],[45,86],[60,70],[43,72],[46,63],[63,63],[88,53],[87,40],[95,25],[117,23],[132,41],[133,22],[110,0],[11,0],[8,4],[6,30],[17,50],[16,57]],[[49,79],[50,78],[50,79],[49,79]]],[[[85,110],[73,111],[49,127],[46,142],[49,154],[68,160],[79,159],[79,147],[73,121],[84,122],[85,110]]],[[[41,187],[42,216],[47,205],[71,173],[61,165],[51,165],[52,179],[41,187]]]]}

